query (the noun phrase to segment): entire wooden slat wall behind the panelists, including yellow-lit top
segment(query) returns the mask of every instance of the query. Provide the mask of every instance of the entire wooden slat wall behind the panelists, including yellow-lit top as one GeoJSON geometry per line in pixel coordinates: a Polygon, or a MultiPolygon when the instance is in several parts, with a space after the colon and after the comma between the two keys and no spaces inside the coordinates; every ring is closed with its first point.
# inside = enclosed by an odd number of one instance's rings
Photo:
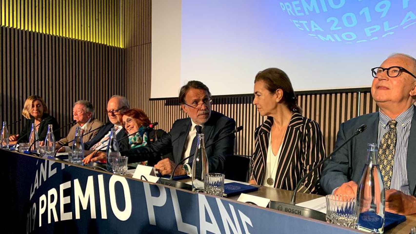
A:
{"type": "MultiPolygon", "coordinates": [[[[92,101],[95,116],[106,121],[103,111],[113,94],[125,95],[133,108],[143,109],[166,131],[176,119],[186,117],[171,101],[149,101],[151,0],[31,0],[24,4],[5,0],[1,7],[1,25],[13,27],[0,30],[2,120],[10,123],[17,118],[10,116],[20,116],[31,94],[44,97],[61,124],[71,120],[72,104],[78,99],[92,101]]],[[[244,126],[236,137],[236,154],[253,153],[254,130],[264,121],[252,102],[253,96],[213,101],[213,110],[244,126]]],[[[328,152],[334,148],[340,123],[378,111],[369,92],[299,94],[298,104],[304,116],[319,123],[328,152]]],[[[12,126],[10,131],[21,127],[12,126]]]]}

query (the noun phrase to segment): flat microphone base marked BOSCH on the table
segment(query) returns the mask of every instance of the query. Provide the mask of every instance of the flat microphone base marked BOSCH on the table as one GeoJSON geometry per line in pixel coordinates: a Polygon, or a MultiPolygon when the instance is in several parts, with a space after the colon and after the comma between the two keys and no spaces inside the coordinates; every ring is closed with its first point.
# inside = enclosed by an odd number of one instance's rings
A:
{"type": "Polygon", "coordinates": [[[286,204],[283,202],[270,201],[269,208],[326,222],[326,214],[319,212],[317,210],[300,207],[297,205],[286,204]]]}

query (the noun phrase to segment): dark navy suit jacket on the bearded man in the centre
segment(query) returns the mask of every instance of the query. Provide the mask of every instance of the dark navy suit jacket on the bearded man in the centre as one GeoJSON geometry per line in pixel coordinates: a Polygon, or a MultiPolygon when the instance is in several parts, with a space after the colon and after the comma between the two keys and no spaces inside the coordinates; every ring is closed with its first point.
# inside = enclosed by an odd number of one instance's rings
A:
{"type": "MultiPolygon", "coordinates": [[[[129,163],[132,163],[150,160],[154,157],[154,153],[159,153],[159,155],[171,153],[168,158],[178,164],[182,159],[191,126],[191,118],[178,119],[173,123],[171,131],[153,144],[121,152],[121,155],[128,156],[129,163]]],[[[211,116],[202,129],[205,145],[213,143],[234,129],[235,121],[232,118],[211,111],[211,116]]],[[[224,172],[225,159],[234,153],[234,139],[235,135],[232,134],[206,148],[209,172],[224,172]]]]}

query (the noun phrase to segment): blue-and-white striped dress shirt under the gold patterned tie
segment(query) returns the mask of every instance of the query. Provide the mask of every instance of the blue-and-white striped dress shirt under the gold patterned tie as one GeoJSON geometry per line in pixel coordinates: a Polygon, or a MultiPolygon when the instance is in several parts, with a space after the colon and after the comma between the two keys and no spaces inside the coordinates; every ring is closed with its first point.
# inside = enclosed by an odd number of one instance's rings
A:
{"type": "MultiPolygon", "coordinates": [[[[379,118],[379,145],[381,138],[389,131],[390,127],[387,125],[391,118],[384,113],[380,113],[379,118]]],[[[396,150],[394,152],[394,164],[393,175],[391,176],[391,189],[399,190],[406,195],[410,194],[409,180],[407,179],[406,169],[406,156],[407,156],[407,144],[409,143],[411,121],[414,113],[414,105],[412,105],[407,111],[404,111],[397,116],[396,121],[396,150]]],[[[416,169],[415,169],[416,170],[416,169]]]]}

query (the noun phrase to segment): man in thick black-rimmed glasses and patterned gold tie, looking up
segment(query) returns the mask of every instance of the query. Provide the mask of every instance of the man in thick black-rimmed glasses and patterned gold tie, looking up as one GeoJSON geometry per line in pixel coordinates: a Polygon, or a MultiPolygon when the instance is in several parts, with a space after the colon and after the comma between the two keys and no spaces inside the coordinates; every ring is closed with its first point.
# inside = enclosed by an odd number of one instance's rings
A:
{"type": "Polygon", "coordinates": [[[332,156],[320,183],[328,194],[357,194],[366,163],[366,144],[379,144],[379,167],[386,190],[386,211],[416,213],[416,59],[392,54],[371,69],[371,95],[379,112],[353,118],[339,126],[336,147],[362,124],[367,130],[332,156]]]}

